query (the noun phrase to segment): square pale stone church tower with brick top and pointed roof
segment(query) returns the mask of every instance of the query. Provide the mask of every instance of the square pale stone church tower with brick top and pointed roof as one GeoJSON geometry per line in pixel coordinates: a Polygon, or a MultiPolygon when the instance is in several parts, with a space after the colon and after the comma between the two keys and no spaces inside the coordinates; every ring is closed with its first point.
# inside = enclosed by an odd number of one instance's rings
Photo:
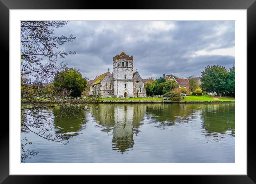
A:
{"type": "Polygon", "coordinates": [[[133,97],[133,56],[124,53],[113,57],[115,97],[133,97]]]}

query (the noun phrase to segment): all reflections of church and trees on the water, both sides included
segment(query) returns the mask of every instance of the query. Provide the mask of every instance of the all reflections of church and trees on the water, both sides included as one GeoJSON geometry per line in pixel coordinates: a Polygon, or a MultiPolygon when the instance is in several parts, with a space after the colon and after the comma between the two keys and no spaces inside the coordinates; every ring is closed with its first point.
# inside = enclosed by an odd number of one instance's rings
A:
{"type": "MultiPolygon", "coordinates": [[[[235,138],[235,104],[163,104],[163,103],[109,103],[88,106],[102,132],[112,138],[112,148],[125,152],[134,146],[134,136],[139,132],[144,118],[153,122],[155,128],[172,129],[176,124],[191,123],[196,119],[201,124],[202,134],[215,141],[225,134],[235,138]]],[[[85,112],[79,106],[53,109],[56,133],[77,136],[83,133],[85,112]],[[58,116],[65,112],[67,117],[58,116]]]]}

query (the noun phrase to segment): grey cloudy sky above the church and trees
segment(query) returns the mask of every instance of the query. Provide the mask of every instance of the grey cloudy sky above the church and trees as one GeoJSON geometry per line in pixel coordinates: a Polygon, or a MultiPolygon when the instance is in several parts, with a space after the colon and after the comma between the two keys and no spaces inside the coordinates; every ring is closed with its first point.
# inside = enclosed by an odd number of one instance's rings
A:
{"type": "Polygon", "coordinates": [[[200,76],[207,65],[235,63],[235,21],[70,21],[55,35],[76,37],[64,45],[76,51],[61,61],[83,77],[112,72],[112,58],[122,50],[134,56],[141,77],[200,76]]]}

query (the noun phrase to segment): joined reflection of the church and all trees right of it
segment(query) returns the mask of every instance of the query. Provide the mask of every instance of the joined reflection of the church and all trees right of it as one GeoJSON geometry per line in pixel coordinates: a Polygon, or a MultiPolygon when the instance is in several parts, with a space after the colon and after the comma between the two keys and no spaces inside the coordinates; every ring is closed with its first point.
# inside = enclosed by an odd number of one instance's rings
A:
{"type": "Polygon", "coordinates": [[[199,119],[203,121],[206,137],[216,139],[227,133],[235,136],[235,107],[232,104],[115,103],[98,104],[97,107],[90,108],[92,115],[98,121],[98,126],[102,127],[101,131],[113,130],[112,147],[120,152],[133,147],[134,133],[139,132],[145,117],[161,128],[199,119]]]}

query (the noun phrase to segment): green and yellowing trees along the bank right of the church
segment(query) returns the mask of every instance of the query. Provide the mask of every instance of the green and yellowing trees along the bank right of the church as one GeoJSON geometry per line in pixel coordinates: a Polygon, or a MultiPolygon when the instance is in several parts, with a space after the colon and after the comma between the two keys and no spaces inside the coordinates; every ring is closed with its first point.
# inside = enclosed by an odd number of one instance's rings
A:
{"type": "MultiPolygon", "coordinates": [[[[174,78],[178,78],[174,76],[174,78]]],[[[189,76],[189,90],[195,94],[207,94],[216,92],[222,96],[235,96],[235,66],[227,69],[225,66],[206,66],[201,72],[201,84],[198,77],[189,76]]],[[[178,88],[174,80],[166,80],[163,77],[153,80],[148,78],[144,85],[147,95],[166,94],[174,91],[184,93],[186,88],[178,88]],[[178,89],[177,89],[178,88],[178,89]]]]}

